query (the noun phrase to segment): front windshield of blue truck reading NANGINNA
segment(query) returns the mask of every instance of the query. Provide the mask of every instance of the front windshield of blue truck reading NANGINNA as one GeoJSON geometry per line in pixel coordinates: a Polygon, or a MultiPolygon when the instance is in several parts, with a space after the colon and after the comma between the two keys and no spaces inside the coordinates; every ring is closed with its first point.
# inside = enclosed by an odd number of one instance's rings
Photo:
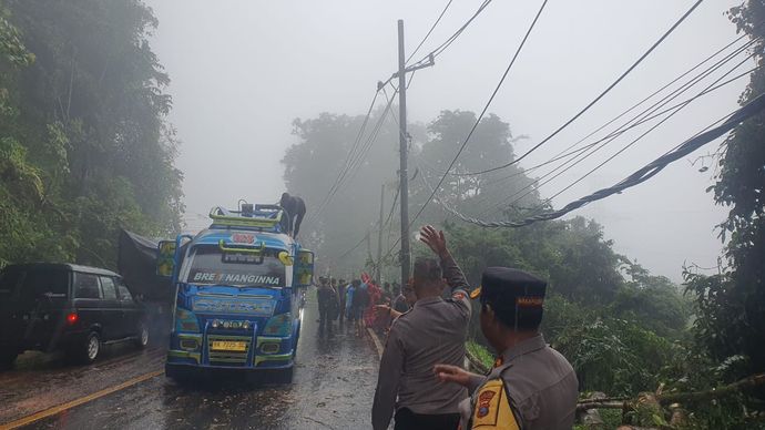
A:
{"type": "Polygon", "coordinates": [[[269,249],[257,255],[223,252],[217,246],[194,248],[185,281],[195,285],[280,288],[285,267],[269,249]]]}

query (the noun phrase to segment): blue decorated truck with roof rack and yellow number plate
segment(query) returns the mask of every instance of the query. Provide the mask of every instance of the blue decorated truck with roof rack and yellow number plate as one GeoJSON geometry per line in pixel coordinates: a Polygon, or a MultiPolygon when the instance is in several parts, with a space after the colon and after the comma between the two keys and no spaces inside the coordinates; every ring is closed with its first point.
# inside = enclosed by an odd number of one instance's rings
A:
{"type": "Polygon", "coordinates": [[[175,289],[165,373],[271,370],[289,380],[314,254],[285,233],[279,206],[214,207],[210,217],[197,235],[159,244],[157,274],[175,289]]]}

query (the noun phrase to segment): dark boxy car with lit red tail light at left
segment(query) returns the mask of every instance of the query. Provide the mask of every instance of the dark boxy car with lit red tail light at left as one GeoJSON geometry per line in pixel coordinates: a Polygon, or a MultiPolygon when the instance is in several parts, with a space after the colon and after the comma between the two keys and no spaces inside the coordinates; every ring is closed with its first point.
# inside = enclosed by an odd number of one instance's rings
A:
{"type": "Polygon", "coordinates": [[[103,344],[146,346],[143,306],[111,270],[71,264],[10,265],[0,272],[0,367],[26,350],[63,350],[89,364],[103,344]]]}

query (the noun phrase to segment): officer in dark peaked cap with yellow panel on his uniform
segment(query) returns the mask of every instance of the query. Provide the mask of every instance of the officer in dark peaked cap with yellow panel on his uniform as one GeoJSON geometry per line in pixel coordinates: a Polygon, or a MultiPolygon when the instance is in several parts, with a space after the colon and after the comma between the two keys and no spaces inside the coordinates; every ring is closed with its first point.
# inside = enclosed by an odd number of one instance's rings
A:
{"type": "Polygon", "coordinates": [[[499,354],[486,377],[451,365],[438,365],[442,381],[471,392],[460,405],[461,429],[571,429],[577,410],[578,381],[573,368],[550,348],[542,322],[547,283],[522,270],[489,267],[481,287],[481,331],[499,354]]]}

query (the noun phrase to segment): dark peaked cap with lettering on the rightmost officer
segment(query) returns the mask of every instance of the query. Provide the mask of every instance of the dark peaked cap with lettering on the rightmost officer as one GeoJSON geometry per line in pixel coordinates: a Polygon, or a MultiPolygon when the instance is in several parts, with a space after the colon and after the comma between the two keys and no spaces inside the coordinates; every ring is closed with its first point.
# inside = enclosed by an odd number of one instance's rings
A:
{"type": "Polygon", "coordinates": [[[548,283],[527,272],[508,267],[488,267],[481,286],[471,298],[480,297],[497,318],[509,327],[534,329],[542,321],[544,293],[548,283]]]}

